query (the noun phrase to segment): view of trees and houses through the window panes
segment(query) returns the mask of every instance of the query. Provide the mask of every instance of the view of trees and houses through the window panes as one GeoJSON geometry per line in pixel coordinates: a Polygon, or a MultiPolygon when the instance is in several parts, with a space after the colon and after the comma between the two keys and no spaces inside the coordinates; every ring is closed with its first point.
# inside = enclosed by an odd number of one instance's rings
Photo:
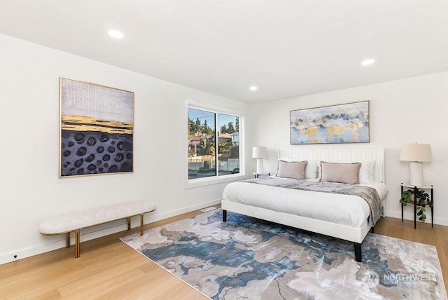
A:
{"type": "Polygon", "coordinates": [[[188,179],[237,173],[239,118],[189,107],[188,179]]]}

